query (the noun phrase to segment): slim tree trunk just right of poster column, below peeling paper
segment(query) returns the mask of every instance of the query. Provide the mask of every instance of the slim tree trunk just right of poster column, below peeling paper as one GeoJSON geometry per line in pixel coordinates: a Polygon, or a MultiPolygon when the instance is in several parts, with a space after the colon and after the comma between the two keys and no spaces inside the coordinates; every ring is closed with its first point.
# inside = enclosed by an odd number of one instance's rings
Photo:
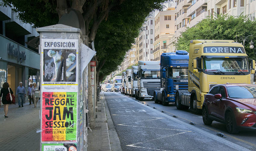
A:
{"type": "Polygon", "coordinates": [[[92,100],[92,79],[91,79],[91,62],[88,63],[88,116],[90,128],[95,128],[96,123],[94,119],[94,108],[92,100]]]}

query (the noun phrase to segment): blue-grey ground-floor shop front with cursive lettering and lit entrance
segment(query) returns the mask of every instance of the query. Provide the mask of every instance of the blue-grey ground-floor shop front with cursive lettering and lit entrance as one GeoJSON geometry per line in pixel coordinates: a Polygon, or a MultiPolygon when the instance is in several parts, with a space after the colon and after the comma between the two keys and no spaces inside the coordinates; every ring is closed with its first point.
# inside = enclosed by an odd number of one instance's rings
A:
{"type": "Polygon", "coordinates": [[[27,91],[30,83],[36,82],[39,86],[39,72],[38,53],[0,35],[0,88],[8,82],[16,93],[19,82],[22,82],[27,91]]]}

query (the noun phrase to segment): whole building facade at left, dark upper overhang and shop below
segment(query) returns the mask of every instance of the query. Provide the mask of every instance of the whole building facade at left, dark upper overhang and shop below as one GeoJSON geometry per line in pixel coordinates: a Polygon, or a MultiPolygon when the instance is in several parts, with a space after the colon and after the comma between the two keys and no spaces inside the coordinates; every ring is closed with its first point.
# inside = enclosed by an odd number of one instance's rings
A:
{"type": "Polygon", "coordinates": [[[0,7],[0,88],[8,82],[14,93],[19,82],[27,91],[29,83],[40,81],[40,55],[26,43],[39,34],[17,15],[10,6],[0,7]]]}

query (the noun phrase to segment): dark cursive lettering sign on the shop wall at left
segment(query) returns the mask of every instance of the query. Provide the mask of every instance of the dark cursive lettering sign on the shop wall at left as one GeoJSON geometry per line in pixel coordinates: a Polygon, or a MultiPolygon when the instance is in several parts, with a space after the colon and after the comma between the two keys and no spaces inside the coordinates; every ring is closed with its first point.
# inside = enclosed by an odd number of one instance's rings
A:
{"type": "Polygon", "coordinates": [[[20,46],[19,45],[17,45],[17,48],[14,48],[14,45],[11,45],[11,43],[9,43],[8,47],[7,47],[7,53],[10,56],[16,57],[17,62],[22,63],[23,60],[26,60],[25,51],[20,52],[20,46]]]}

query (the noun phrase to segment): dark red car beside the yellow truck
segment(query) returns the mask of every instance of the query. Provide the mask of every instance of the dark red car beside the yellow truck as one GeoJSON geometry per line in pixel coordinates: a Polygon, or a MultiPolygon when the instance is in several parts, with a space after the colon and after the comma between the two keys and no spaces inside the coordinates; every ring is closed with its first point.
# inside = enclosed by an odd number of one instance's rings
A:
{"type": "Polygon", "coordinates": [[[256,130],[256,85],[215,85],[204,97],[203,122],[226,124],[229,133],[256,130]]]}

